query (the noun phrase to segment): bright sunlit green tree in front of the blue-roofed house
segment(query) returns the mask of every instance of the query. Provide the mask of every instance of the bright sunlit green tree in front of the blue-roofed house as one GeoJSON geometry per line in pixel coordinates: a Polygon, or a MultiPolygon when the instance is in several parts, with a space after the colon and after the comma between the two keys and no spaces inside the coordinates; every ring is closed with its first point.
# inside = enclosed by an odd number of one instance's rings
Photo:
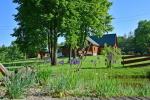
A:
{"type": "Polygon", "coordinates": [[[101,36],[103,33],[112,30],[110,24],[112,17],[108,13],[111,4],[107,0],[76,0],[70,2],[67,8],[71,8],[71,10],[68,9],[63,24],[67,33],[65,37],[70,47],[70,54],[72,54],[72,49],[75,51],[76,48],[85,48],[86,37],[91,33],[101,36]]]}

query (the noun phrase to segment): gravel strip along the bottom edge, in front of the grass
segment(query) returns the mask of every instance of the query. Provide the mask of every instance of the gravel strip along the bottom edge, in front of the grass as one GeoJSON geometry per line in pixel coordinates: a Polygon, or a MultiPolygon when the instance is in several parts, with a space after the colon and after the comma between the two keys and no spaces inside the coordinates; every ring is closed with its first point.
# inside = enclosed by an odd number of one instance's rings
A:
{"type": "MultiPolygon", "coordinates": [[[[66,98],[52,98],[50,96],[40,95],[40,89],[30,89],[28,96],[25,99],[15,99],[15,100],[150,100],[150,97],[111,97],[111,98],[92,98],[92,97],[66,97],[66,98]],[[36,95],[35,95],[36,94],[36,95]]],[[[0,87],[0,100],[10,100],[3,98],[5,95],[5,88],[0,87]]]]}

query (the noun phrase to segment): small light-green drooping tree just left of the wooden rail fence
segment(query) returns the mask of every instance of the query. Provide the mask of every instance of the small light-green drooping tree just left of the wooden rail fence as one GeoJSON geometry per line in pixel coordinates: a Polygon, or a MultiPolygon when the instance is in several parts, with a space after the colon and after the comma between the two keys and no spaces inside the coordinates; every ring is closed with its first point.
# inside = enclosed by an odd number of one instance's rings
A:
{"type": "Polygon", "coordinates": [[[102,54],[105,57],[108,68],[111,68],[113,64],[118,63],[117,61],[121,59],[121,50],[119,48],[105,45],[102,54]]]}

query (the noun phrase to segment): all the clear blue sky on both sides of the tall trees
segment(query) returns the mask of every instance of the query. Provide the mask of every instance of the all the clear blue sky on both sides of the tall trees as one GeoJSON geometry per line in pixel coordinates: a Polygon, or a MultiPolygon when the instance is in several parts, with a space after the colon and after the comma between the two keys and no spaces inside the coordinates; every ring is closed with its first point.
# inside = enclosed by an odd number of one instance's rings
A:
{"type": "MultiPolygon", "coordinates": [[[[110,14],[114,20],[114,30],[110,33],[117,33],[118,36],[134,32],[140,20],[150,20],[150,0],[110,0],[113,5],[110,14]]],[[[11,37],[13,29],[17,26],[13,15],[17,13],[12,0],[0,0],[0,46],[9,46],[15,38],[11,37]]],[[[60,38],[59,42],[64,39],[60,38]]]]}

